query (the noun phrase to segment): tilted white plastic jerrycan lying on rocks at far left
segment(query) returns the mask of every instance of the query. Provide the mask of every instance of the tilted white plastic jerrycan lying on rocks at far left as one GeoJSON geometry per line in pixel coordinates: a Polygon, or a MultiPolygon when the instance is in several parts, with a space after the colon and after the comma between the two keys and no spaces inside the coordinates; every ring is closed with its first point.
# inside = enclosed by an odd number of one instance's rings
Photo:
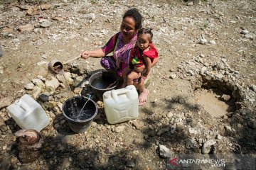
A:
{"type": "Polygon", "coordinates": [[[7,111],[23,130],[36,130],[40,132],[50,123],[41,105],[31,98],[31,96],[28,96],[28,94],[25,94],[8,106],[7,111]]]}

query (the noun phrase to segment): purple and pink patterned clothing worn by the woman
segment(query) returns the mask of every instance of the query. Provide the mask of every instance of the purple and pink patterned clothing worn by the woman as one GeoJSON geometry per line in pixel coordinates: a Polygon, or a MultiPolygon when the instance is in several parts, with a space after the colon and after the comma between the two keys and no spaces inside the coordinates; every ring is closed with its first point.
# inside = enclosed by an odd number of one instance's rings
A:
{"type": "Polygon", "coordinates": [[[119,77],[122,77],[122,72],[124,68],[129,65],[132,49],[137,41],[137,34],[134,35],[132,40],[129,43],[124,44],[122,42],[122,33],[119,32],[110,38],[107,44],[102,47],[102,51],[105,52],[105,55],[113,52],[112,56],[102,57],[100,64],[105,69],[116,72],[119,77]]]}

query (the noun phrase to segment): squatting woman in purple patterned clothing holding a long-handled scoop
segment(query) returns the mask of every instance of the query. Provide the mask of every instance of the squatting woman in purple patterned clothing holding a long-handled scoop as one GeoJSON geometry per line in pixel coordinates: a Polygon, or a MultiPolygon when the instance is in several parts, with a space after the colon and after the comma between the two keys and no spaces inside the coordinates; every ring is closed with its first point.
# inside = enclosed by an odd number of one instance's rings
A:
{"type": "MultiPolygon", "coordinates": [[[[137,8],[129,9],[124,13],[120,32],[113,35],[104,47],[96,50],[84,51],[81,53],[83,59],[88,57],[102,57],[100,64],[110,72],[122,77],[122,72],[128,66],[129,54],[137,41],[137,32],[142,28],[142,15],[137,8]],[[112,56],[107,56],[113,52],[112,56]]],[[[156,64],[157,60],[152,62],[156,64]]],[[[139,89],[139,106],[146,103],[149,91],[144,86],[144,79],[134,82],[134,86],[139,89]]]]}

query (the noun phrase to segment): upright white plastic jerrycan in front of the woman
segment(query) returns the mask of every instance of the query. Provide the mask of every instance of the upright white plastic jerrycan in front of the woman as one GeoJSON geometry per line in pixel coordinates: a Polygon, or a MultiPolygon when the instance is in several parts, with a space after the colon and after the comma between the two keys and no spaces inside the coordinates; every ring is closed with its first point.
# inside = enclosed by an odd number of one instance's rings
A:
{"type": "Polygon", "coordinates": [[[138,93],[133,85],[106,91],[103,94],[103,103],[107,122],[110,124],[122,123],[139,116],[138,93]]]}

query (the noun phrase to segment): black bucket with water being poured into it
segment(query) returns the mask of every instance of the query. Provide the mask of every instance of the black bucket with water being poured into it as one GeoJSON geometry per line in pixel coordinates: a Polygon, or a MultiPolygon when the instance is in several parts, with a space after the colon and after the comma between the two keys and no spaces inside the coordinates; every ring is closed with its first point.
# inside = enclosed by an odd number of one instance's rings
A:
{"type": "Polygon", "coordinates": [[[68,98],[65,103],[63,103],[63,115],[66,120],[68,120],[68,126],[74,132],[82,133],[90,128],[92,124],[92,119],[97,115],[97,105],[94,101],[86,97],[75,96],[73,98],[68,98]],[[85,105],[85,102],[86,105],[85,105]],[[84,108],[82,108],[85,105],[84,108]],[[78,115],[80,111],[80,118],[78,115]]]}

